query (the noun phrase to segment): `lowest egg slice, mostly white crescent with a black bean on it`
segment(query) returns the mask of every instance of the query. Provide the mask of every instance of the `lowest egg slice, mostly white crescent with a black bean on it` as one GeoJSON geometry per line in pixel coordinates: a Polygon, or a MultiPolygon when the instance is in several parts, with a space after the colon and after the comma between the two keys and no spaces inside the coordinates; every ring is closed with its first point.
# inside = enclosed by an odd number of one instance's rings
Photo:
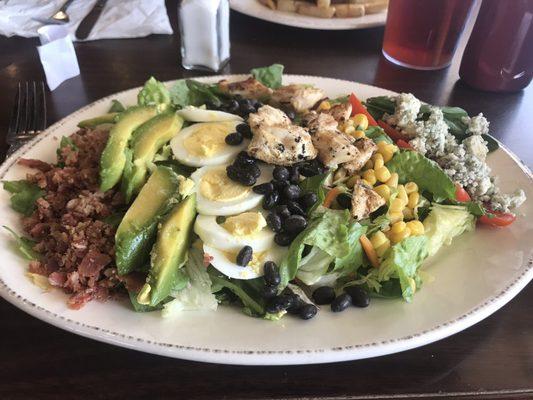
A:
{"type": "Polygon", "coordinates": [[[246,267],[236,264],[238,251],[223,251],[204,244],[204,253],[211,265],[224,275],[234,279],[254,279],[263,276],[265,262],[274,261],[279,264],[287,253],[287,248],[274,245],[263,252],[254,251],[252,261],[246,267]]]}

